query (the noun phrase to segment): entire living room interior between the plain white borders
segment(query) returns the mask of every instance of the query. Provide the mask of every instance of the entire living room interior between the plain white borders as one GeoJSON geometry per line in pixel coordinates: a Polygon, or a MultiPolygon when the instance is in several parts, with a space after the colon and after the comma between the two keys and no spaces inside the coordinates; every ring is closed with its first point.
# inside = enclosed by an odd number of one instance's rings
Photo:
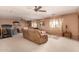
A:
{"type": "Polygon", "coordinates": [[[78,6],[6,6],[0,13],[0,51],[79,51],[78,6]]]}

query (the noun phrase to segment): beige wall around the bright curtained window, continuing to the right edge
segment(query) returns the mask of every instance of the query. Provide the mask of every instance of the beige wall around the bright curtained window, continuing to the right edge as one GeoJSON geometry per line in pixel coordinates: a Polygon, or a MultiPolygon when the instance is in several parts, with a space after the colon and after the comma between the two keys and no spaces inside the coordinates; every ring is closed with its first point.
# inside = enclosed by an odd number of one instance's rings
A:
{"type": "Polygon", "coordinates": [[[50,22],[51,18],[42,19],[42,21],[44,21],[44,24],[45,24],[45,26],[43,26],[42,29],[47,31],[50,34],[61,36],[62,35],[62,30],[65,31],[65,25],[68,25],[68,28],[72,33],[72,37],[74,39],[78,39],[78,36],[79,36],[78,14],[76,14],[76,13],[68,14],[68,15],[62,16],[62,18],[63,18],[63,24],[62,24],[63,26],[61,28],[55,28],[55,29],[51,28],[50,25],[49,25],[49,22],[50,22]]]}

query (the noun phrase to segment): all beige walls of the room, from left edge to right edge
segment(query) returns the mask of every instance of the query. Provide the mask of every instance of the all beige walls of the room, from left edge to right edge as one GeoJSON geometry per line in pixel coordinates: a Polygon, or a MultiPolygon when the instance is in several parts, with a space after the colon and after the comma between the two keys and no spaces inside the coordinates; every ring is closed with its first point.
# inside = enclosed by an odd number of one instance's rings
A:
{"type": "MultiPolygon", "coordinates": [[[[43,30],[47,31],[50,34],[53,35],[62,35],[62,28],[51,28],[49,25],[49,22],[52,18],[48,19],[42,19],[38,20],[38,26],[39,22],[43,21],[44,26],[42,27],[43,30]]],[[[18,20],[16,18],[0,18],[0,25],[2,24],[12,24],[13,21],[18,20]]],[[[53,19],[52,19],[53,20],[53,19]]],[[[21,28],[28,26],[27,21],[20,20],[21,28]]],[[[68,14],[63,16],[63,30],[65,30],[65,25],[68,25],[69,30],[71,31],[73,38],[78,39],[79,36],[79,18],[78,14],[68,14]]]]}

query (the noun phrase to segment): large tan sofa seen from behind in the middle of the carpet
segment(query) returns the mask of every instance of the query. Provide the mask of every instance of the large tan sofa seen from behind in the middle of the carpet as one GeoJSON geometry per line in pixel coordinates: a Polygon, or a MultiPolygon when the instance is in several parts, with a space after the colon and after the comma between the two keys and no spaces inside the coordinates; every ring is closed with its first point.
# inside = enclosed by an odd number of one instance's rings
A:
{"type": "Polygon", "coordinates": [[[43,44],[48,41],[48,36],[46,34],[42,34],[37,29],[22,29],[22,31],[25,39],[31,40],[37,44],[43,44]]]}

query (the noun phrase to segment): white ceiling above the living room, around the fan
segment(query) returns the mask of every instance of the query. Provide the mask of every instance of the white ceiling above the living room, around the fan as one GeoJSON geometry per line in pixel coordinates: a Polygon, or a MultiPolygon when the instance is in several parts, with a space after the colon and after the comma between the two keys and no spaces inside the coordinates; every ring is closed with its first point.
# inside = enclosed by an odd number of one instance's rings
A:
{"type": "Polygon", "coordinates": [[[77,12],[78,6],[43,6],[47,12],[35,12],[34,6],[0,6],[0,17],[21,17],[26,20],[42,19],[77,12]]]}

